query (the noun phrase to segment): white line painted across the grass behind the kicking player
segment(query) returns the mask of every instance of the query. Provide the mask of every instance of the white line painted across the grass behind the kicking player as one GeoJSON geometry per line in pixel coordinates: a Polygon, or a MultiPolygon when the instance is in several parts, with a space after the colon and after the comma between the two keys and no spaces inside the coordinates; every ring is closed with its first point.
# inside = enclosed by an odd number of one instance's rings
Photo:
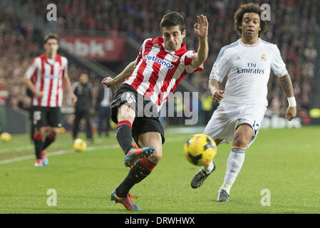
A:
{"type": "MultiPolygon", "coordinates": [[[[168,138],[167,140],[165,140],[165,142],[176,142],[176,141],[180,141],[180,140],[185,140],[186,137],[176,137],[176,138],[168,138]]],[[[118,144],[112,144],[112,145],[98,145],[98,146],[93,146],[93,147],[87,147],[86,151],[91,151],[91,150],[108,150],[108,149],[115,149],[120,147],[118,144]]],[[[56,156],[56,155],[65,155],[67,153],[71,153],[74,152],[73,149],[68,149],[68,150],[57,150],[55,152],[48,152],[47,156],[51,157],[51,156],[56,156]]],[[[23,160],[29,160],[34,158],[34,155],[26,155],[23,157],[14,157],[14,158],[10,158],[7,160],[0,160],[0,164],[8,164],[11,162],[20,162],[23,160]]]]}

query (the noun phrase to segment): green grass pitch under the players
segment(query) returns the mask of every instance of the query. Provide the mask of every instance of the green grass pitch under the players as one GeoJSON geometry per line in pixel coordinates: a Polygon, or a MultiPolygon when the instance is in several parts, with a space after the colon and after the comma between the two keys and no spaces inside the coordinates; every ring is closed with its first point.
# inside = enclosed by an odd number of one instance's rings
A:
{"type": "MultiPolygon", "coordinates": [[[[319,213],[320,128],[260,130],[247,150],[230,192],[230,202],[216,202],[230,145],[218,147],[217,169],[197,190],[190,180],[200,169],[183,155],[193,133],[166,133],[162,160],[130,191],[142,209],[128,212],[110,201],[110,192],[128,173],[113,133],[96,138],[84,152],[74,152],[70,135],[59,135],[48,148],[49,165],[34,167],[29,135],[0,142],[0,214],[3,213],[319,213]],[[262,190],[270,206],[262,206],[262,190]],[[56,191],[56,206],[47,204],[56,191]]],[[[81,135],[84,138],[84,135],[81,135]]]]}

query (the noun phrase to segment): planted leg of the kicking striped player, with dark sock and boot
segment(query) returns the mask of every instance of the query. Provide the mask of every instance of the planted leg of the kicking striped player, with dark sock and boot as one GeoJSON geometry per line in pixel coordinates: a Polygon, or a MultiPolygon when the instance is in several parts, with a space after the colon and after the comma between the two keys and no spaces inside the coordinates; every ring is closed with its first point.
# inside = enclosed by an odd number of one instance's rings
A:
{"type": "MultiPolygon", "coordinates": [[[[155,152],[153,153],[153,155],[150,155],[149,157],[141,158],[140,160],[135,162],[135,164],[131,167],[127,177],[125,177],[125,180],[123,180],[123,182],[115,189],[115,192],[113,192],[114,194],[111,195],[111,199],[115,197],[117,199],[120,198],[122,200],[126,199],[128,202],[131,202],[129,201],[130,189],[134,185],[144,180],[145,177],[148,177],[148,175],[150,175],[151,171],[155,168],[160,158],[162,157],[162,138],[160,133],[158,132],[140,133],[138,137],[138,144],[140,145],[140,147],[155,147],[155,152]]],[[[135,204],[131,205],[131,207],[128,206],[126,208],[129,210],[140,209],[135,204]]]]}

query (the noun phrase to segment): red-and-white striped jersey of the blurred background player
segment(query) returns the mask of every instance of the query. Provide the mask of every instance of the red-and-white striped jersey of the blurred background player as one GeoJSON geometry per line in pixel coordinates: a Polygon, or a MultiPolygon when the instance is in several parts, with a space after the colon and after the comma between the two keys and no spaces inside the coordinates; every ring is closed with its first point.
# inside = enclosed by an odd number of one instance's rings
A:
{"type": "Polygon", "coordinates": [[[33,95],[33,106],[61,107],[63,98],[62,79],[68,71],[66,57],[56,55],[56,59],[46,58],[46,53],[33,59],[24,77],[33,81],[43,97],[33,95]]]}

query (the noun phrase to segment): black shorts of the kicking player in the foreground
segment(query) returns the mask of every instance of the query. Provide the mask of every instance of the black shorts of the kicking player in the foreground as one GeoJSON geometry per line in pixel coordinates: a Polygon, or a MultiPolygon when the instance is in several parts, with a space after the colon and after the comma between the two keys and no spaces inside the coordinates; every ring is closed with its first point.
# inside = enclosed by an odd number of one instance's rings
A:
{"type": "Polygon", "coordinates": [[[120,105],[125,104],[135,110],[133,121],[133,139],[138,146],[140,133],[160,133],[162,144],[165,142],[165,131],[162,128],[155,105],[144,95],[138,94],[137,90],[128,84],[123,84],[113,98],[111,103],[111,119],[118,123],[117,113],[120,105]]]}

